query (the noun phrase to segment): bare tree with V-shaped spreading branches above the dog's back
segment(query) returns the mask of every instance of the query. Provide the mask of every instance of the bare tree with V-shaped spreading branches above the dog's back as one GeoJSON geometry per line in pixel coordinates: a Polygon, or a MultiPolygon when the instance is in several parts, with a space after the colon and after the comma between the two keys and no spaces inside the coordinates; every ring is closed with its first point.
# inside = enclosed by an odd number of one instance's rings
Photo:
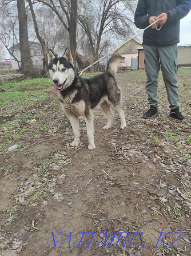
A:
{"type": "Polygon", "coordinates": [[[124,6],[124,0],[99,0],[96,4],[89,0],[89,5],[94,5],[93,12],[86,1],[82,1],[81,5],[83,13],[78,15],[79,24],[86,32],[91,54],[97,61],[110,44],[108,38],[112,38],[112,35],[127,38],[130,23],[133,22],[126,16],[127,3],[124,6]]]}

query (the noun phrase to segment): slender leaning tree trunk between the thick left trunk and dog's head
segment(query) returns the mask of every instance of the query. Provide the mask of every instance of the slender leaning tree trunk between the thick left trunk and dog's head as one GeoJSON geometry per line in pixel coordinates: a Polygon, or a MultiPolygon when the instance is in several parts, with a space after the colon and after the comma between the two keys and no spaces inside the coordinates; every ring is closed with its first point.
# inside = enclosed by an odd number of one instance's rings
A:
{"type": "Polygon", "coordinates": [[[38,41],[40,42],[41,47],[42,47],[42,52],[43,52],[43,70],[45,71],[46,67],[48,65],[45,40],[43,40],[43,38],[39,34],[38,25],[37,25],[37,19],[36,19],[35,13],[34,13],[33,4],[31,2],[31,0],[27,0],[27,2],[29,3],[30,11],[31,11],[31,14],[32,14],[32,17],[33,17],[35,33],[36,33],[38,41]]]}

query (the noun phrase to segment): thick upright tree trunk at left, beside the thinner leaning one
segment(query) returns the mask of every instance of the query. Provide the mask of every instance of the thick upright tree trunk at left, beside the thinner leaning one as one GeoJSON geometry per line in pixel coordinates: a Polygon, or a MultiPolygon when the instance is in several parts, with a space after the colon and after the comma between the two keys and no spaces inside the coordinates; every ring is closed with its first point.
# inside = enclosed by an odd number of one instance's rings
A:
{"type": "Polygon", "coordinates": [[[30,77],[34,72],[31,60],[28,38],[27,17],[25,0],[17,0],[18,20],[19,20],[19,44],[21,52],[21,70],[25,77],[30,77]]]}

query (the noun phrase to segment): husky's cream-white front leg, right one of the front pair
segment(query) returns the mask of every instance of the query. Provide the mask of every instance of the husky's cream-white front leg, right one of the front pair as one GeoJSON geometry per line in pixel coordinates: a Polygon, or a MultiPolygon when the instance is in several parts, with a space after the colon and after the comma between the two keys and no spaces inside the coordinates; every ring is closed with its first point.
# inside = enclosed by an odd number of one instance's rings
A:
{"type": "Polygon", "coordinates": [[[92,111],[89,111],[89,115],[84,117],[87,128],[87,138],[88,138],[88,149],[94,149],[94,116],[92,111]]]}

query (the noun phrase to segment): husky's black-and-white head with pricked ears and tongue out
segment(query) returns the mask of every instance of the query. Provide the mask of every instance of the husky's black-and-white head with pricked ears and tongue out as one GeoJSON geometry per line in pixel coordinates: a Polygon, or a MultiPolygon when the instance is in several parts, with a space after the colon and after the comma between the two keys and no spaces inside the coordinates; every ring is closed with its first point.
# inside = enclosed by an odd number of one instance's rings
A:
{"type": "Polygon", "coordinates": [[[49,50],[48,54],[49,73],[53,80],[54,92],[66,89],[74,80],[73,57],[69,49],[65,50],[63,57],[56,57],[55,54],[49,50]]]}

